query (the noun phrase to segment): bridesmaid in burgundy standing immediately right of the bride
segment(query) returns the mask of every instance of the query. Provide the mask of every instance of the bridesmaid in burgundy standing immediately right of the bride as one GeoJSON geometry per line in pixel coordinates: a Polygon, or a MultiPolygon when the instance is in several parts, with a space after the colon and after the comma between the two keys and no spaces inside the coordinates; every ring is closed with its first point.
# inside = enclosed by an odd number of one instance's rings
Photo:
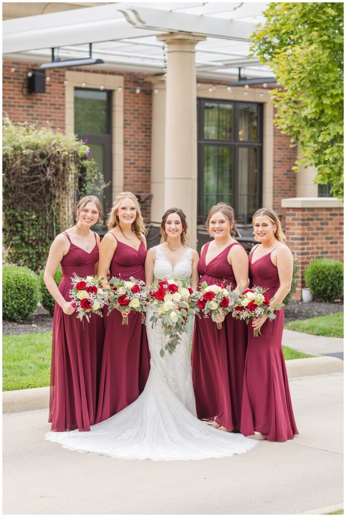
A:
{"type": "MultiPolygon", "coordinates": [[[[234,211],[218,203],[209,212],[207,230],[214,241],[201,249],[198,263],[200,284],[232,284],[238,291],[248,285],[248,261],[244,248],[234,239],[234,211]]],[[[214,420],[221,431],[239,431],[243,375],[247,345],[245,322],[221,316],[223,328],[217,329],[211,318],[195,320],[192,346],[192,377],[197,416],[214,420]]]]}

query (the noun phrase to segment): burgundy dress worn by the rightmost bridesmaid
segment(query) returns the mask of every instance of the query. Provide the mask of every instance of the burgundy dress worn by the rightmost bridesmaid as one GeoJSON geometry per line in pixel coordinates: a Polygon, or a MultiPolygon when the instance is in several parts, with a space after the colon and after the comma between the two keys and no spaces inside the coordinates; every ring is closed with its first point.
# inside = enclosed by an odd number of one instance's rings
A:
{"type": "MultiPolygon", "coordinates": [[[[253,252],[249,256],[250,286],[268,288],[265,295],[272,298],[280,286],[280,280],[271,254],[258,258],[253,264],[252,257],[253,252]]],[[[254,337],[251,320],[248,324],[241,432],[249,436],[258,431],[269,440],[285,442],[298,431],[281,346],[284,307],[275,314],[275,320],[264,322],[261,335],[257,338],[254,337]]]]}

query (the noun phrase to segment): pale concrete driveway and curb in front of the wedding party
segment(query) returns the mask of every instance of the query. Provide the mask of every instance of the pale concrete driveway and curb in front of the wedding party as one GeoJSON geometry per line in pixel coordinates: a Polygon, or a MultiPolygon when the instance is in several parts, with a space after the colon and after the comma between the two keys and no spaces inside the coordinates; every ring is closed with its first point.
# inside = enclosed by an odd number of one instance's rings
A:
{"type": "MultiPolygon", "coordinates": [[[[316,354],[302,339],[292,341],[284,336],[284,344],[316,354]]],[[[44,440],[49,388],[5,392],[3,512],[246,515],[343,508],[343,361],[296,359],[287,370],[300,435],[221,460],[130,461],[69,451],[44,440]]]]}

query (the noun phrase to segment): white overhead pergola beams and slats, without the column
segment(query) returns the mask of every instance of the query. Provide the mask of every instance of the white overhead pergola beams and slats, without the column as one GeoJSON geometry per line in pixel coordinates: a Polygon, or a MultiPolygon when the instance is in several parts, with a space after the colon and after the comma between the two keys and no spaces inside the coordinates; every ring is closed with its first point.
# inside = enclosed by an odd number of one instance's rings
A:
{"type": "Polygon", "coordinates": [[[248,37],[263,20],[265,3],[114,3],[3,22],[7,57],[47,62],[51,49],[61,59],[92,56],[108,68],[158,74],[165,69],[165,45],[156,35],[176,32],[206,36],[196,44],[201,78],[234,80],[272,75],[249,58],[248,37]]]}

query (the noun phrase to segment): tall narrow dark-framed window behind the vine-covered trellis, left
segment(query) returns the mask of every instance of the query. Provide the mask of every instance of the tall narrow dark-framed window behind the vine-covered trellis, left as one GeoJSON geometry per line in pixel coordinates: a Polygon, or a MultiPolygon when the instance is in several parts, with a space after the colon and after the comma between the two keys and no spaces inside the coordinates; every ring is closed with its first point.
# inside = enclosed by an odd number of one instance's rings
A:
{"type": "MultiPolygon", "coordinates": [[[[74,132],[87,141],[90,156],[103,174],[106,188],[90,192],[99,197],[106,215],[112,206],[112,92],[87,88],[74,89],[74,132]]],[[[96,226],[104,234],[105,230],[96,226]]]]}

